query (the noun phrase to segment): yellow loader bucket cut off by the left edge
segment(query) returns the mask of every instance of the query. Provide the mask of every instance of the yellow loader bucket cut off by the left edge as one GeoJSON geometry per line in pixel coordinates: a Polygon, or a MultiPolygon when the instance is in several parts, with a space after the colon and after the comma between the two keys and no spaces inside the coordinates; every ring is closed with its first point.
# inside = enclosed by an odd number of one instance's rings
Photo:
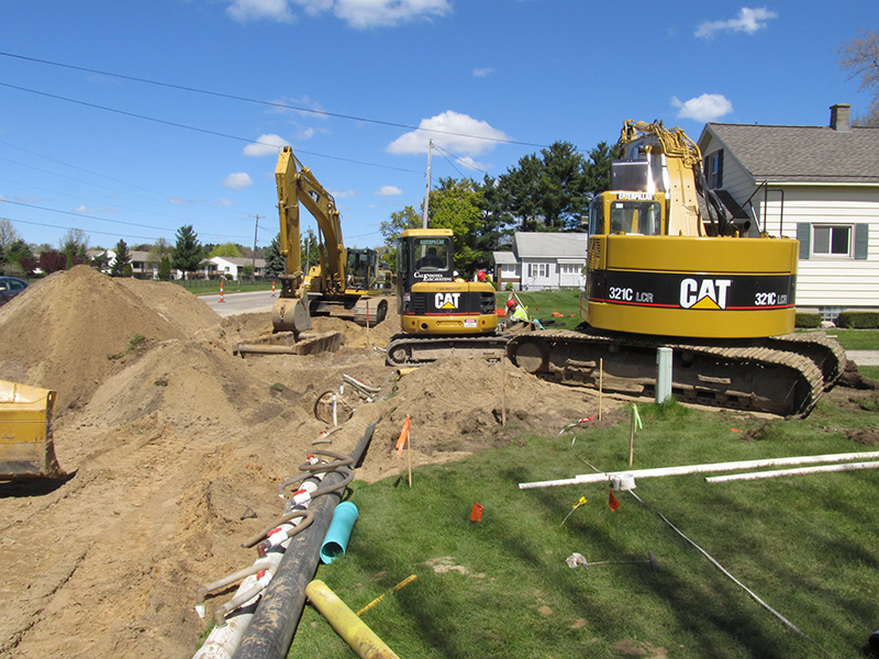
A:
{"type": "Polygon", "coordinates": [[[0,479],[63,476],[52,440],[57,392],[0,380],[0,479]]]}

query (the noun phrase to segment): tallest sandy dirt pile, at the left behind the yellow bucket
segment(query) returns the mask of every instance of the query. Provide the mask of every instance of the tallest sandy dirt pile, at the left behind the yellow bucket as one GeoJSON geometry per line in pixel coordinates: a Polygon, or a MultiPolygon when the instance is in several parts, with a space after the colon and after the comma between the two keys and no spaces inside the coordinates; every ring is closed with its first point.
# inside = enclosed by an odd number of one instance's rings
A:
{"type": "Polygon", "coordinates": [[[133,351],[198,336],[218,322],[204,302],[173,283],[111,279],[77,266],[0,308],[0,372],[55,389],[63,416],[88,403],[133,351]]]}

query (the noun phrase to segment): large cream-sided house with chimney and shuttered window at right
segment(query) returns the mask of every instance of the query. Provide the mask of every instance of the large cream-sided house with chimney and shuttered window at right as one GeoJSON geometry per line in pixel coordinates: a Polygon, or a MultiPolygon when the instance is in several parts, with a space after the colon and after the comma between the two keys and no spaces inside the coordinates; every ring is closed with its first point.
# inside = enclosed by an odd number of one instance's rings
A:
{"type": "Polygon", "coordinates": [[[879,309],[879,127],[709,123],[699,137],[710,188],[749,206],[770,235],[800,241],[797,306],[825,319],[879,309]]]}

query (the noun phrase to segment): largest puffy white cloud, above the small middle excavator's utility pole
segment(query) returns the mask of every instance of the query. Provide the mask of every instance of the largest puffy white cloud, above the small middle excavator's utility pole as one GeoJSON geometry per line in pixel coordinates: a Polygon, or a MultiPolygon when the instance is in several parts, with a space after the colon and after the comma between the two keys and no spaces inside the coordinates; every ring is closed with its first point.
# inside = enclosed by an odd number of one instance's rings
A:
{"type": "Polygon", "coordinates": [[[400,135],[387,150],[397,155],[426,154],[431,139],[455,154],[478,156],[490,152],[499,141],[509,139],[509,136],[488,122],[446,110],[431,119],[422,119],[416,131],[400,135]]]}

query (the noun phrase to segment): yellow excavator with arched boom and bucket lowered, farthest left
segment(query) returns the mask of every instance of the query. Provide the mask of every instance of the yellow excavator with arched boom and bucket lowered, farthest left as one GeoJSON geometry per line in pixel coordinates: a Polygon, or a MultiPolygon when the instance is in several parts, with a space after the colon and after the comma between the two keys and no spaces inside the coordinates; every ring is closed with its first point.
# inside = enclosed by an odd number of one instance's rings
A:
{"type": "MultiPolygon", "coordinates": [[[[274,335],[238,344],[235,354],[307,354],[334,349],[338,336],[305,335],[313,315],[332,315],[359,325],[377,325],[388,314],[391,275],[379,269],[375,249],[346,249],[335,199],[285,146],[275,168],[280,219],[280,254],[285,269],[278,276],[280,294],[271,310],[274,335]],[[300,210],[318,221],[320,265],[304,272],[300,210]]],[[[329,334],[329,333],[327,333],[329,334]]]]}

